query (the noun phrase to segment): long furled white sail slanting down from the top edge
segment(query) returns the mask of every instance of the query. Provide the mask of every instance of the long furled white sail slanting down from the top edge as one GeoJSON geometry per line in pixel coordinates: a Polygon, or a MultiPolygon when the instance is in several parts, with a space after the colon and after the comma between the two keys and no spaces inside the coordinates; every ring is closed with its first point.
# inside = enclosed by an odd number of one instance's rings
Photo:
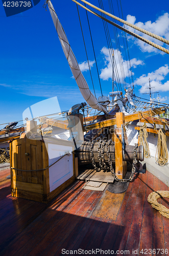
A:
{"type": "Polygon", "coordinates": [[[68,61],[68,64],[70,66],[71,72],[73,73],[75,80],[78,84],[78,87],[80,89],[80,92],[84,99],[87,101],[87,103],[91,106],[91,108],[103,111],[104,113],[108,113],[107,110],[102,106],[98,100],[94,97],[94,95],[91,93],[88,84],[79,68],[78,62],[76,60],[76,57],[73,53],[73,51],[70,48],[69,42],[67,40],[66,34],[62,28],[62,25],[60,24],[60,21],[58,19],[58,16],[54,10],[54,7],[51,3],[51,1],[47,1],[47,5],[49,7],[56,31],[59,36],[59,40],[61,43],[61,46],[63,48],[64,54],[66,56],[66,59],[68,61]]]}

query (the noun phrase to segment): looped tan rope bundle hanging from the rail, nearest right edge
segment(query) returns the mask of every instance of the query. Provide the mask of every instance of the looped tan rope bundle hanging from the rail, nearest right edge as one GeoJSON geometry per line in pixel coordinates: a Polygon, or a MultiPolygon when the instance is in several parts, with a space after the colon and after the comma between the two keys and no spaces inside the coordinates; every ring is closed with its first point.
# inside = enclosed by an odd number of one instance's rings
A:
{"type": "Polygon", "coordinates": [[[168,150],[166,145],[166,135],[164,129],[160,129],[158,131],[156,155],[158,157],[156,158],[156,161],[159,165],[164,166],[168,162],[168,150]]]}

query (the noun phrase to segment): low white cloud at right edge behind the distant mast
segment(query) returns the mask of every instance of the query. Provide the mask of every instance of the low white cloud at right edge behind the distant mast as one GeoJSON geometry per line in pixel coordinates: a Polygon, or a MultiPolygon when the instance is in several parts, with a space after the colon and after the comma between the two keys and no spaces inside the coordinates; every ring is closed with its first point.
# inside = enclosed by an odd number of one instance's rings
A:
{"type": "Polygon", "coordinates": [[[168,65],[165,65],[155,70],[154,72],[149,73],[147,76],[146,75],[140,76],[135,80],[134,83],[137,86],[141,86],[141,89],[139,90],[140,93],[149,93],[147,88],[149,87],[149,78],[150,78],[151,87],[154,87],[152,89],[152,93],[153,91],[167,92],[169,91],[169,81],[162,83],[162,80],[165,79],[165,76],[168,73],[169,73],[169,67],[168,65]]]}

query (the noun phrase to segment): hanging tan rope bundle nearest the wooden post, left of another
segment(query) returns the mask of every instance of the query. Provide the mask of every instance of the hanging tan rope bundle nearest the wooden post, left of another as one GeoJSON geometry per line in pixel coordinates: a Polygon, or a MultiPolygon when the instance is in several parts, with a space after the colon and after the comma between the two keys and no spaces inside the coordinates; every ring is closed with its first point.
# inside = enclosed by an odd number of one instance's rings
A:
{"type": "Polygon", "coordinates": [[[144,157],[150,158],[150,148],[149,143],[147,142],[148,132],[147,132],[147,125],[144,124],[140,127],[139,132],[139,144],[144,148],[144,157]]]}

